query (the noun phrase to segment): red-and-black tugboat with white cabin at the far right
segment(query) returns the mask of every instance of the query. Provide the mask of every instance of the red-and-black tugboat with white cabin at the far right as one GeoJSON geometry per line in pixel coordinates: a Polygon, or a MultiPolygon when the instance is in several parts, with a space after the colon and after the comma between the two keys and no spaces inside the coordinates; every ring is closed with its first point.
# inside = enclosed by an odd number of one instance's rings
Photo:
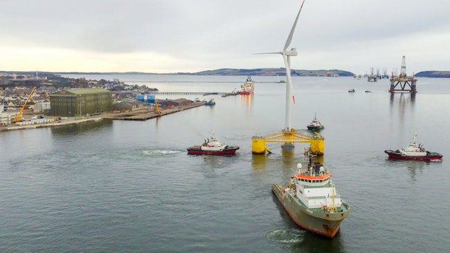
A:
{"type": "Polygon", "coordinates": [[[388,158],[404,159],[404,160],[442,160],[442,155],[436,152],[426,151],[422,144],[417,144],[417,134],[414,133],[413,140],[409,142],[408,147],[401,149],[385,150],[384,153],[388,154],[388,158]]]}

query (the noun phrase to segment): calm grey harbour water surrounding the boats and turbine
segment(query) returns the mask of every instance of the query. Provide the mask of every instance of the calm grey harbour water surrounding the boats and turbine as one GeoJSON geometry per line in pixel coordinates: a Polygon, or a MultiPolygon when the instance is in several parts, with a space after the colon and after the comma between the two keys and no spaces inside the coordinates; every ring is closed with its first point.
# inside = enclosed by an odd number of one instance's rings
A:
{"type": "MultiPolygon", "coordinates": [[[[86,77],[202,92],[229,92],[245,79],[86,77]]],[[[386,79],[294,77],[293,127],[303,131],[317,113],[325,165],[352,205],[332,240],[296,227],[271,193],[307,144],[284,153],[269,143],[271,155],[251,154],[251,136],[285,124],[285,84],[253,79],[251,97],[217,95],[213,107],[145,122],[0,132],[0,252],[448,251],[450,79],[420,78],[411,97],[390,95],[386,79]],[[237,155],[188,156],[211,130],[239,145],[237,155]],[[404,147],[414,131],[442,162],[387,159],[384,150],[404,147]]]]}

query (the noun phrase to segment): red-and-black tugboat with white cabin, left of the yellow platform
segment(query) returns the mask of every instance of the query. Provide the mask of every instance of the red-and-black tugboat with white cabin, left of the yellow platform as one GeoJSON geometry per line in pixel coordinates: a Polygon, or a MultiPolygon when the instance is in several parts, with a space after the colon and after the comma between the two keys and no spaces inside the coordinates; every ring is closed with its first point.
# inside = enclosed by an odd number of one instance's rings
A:
{"type": "Polygon", "coordinates": [[[234,155],[237,149],[239,149],[238,146],[228,146],[224,143],[219,142],[214,133],[211,132],[210,138],[208,138],[208,140],[205,140],[203,144],[188,147],[188,155],[227,156],[234,155]]]}

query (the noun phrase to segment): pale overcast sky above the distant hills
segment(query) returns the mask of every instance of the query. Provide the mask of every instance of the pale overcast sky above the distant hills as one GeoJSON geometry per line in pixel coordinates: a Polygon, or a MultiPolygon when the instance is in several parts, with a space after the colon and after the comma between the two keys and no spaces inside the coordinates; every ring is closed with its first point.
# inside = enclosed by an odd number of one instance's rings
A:
{"type": "MultiPolygon", "coordinates": [[[[0,71],[284,67],[301,0],[2,0],[0,71]]],[[[291,68],[450,71],[450,1],[306,0],[291,68]]]]}

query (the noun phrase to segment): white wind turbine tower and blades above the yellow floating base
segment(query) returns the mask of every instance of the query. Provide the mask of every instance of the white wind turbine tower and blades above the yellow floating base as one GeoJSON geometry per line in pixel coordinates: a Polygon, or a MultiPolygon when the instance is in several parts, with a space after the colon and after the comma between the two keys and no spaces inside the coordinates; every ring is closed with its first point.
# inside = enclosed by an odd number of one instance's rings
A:
{"type": "MultiPolygon", "coordinates": [[[[291,56],[297,56],[297,50],[296,48],[291,48],[291,50],[287,50],[289,45],[291,44],[292,36],[294,35],[294,30],[296,30],[296,24],[298,21],[298,17],[300,16],[300,12],[303,8],[303,3],[305,3],[305,0],[303,0],[302,5],[300,6],[300,10],[298,10],[298,14],[296,17],[296,21],[294,21],[294,25],[291,28],[291,32],[289,32],[289,36],[287,37],[285,47],[280,52],[275,53],[260,53],[260,54],[280,54],[283,57],[283,60],[285,62],[286,66],[286,115],[285,115],[285,131],[291,130],[291,97],[292,102],[296,102],[294,94],[292,92],[292,79],[291,79],[291,56]]],[[[258,55],[260,55],[258,54],[258,55]]]]}

